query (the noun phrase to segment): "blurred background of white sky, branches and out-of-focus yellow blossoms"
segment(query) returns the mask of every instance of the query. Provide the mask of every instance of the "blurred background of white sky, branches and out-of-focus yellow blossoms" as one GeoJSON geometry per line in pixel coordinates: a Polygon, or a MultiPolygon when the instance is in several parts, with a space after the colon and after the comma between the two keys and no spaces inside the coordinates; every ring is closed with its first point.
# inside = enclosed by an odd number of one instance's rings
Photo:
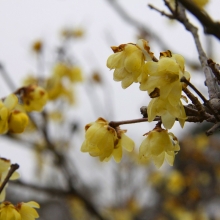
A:
{"type": "MultiPolygon", "coordinates": [[[[21,175],[10,182],[6,200],[39,202],[40,220],[220,219],[220,140],[204,135],[209,124],[171,129],[181,141],[173,167],[158,170],[138,160],[143,134],[155,123],[121,126],[136,147],[119,164],[80,152],[86,124],[141,118],[149,102],[139,85],[124,90],[113,81],[106,67],[110,46],[142,38],[156,57],[167,49],[180,53],[191,82],[207,95],[191,34],[150,3],[168,12],[162,0],[0,1],[1,97],[32,83],[46,86],[50,97],[42,113],[31,114],[25,133],[0,137],[0,156],[18,163],[21,175]]],[[[214,20],[218,4],[205,7],[214,20]]],[[[219,42],[188,16],[208,56],[219,62],[219,42]]]]}

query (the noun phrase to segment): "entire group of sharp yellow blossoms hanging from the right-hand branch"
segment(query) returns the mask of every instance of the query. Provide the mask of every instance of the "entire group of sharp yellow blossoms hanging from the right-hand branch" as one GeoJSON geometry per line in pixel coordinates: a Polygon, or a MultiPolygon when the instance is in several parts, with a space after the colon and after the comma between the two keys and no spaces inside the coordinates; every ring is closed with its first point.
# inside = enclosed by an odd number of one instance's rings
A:
{"type": "MultiPolygon", "coordinates": [[[[147,107],[147,120],[149,122],[158,117],[156,127],[145,134],[146,138],[139,148],[140,159],[152,159],[157,167],[160,167],[166,159],[173,165],[176,152],[180,150],[177,138],[168,129],[171,129],[176,120],[183,127],[187,119],[181,99],[182,89],[187,85],[181,82],[185,77],[190,80],[190,74],[185,70],[184,58],[171,51],[160,53],[159,59],[151,52],[148,42],[140,39],[136,44],[121,44],[111,47],[114,54],[109,56],[107,67],[114,69],[113,78],[121,81],[122,88],[129,87],[132,83],[139,83],[141,91],[147,91],[151,101],[147,107]],[[163,129],[161,125],[165,127],[163,129]]],[[[120,128],[112,128],[104,119],[86,125],[86,140],[81,150],[89,152],[91,156],[99,156],[100,160],[108,160],[111,155],[114,158],[118,143],[129,150],[132,148],[131,139],[120,134],[120,128]],[[119,131],[119,132],[118,132],[119,131]],[[120,138],[118,138],[120,136],[120,138]],[[123,141],[126,137],[127,141],[123,141]],[[129,141],[128,141],[129,140],[129,141]]],[[[121,152],[121,150],[120,150],[121,152]]],[[[116,161],[120,161],[116,159],[116,161]]]]}

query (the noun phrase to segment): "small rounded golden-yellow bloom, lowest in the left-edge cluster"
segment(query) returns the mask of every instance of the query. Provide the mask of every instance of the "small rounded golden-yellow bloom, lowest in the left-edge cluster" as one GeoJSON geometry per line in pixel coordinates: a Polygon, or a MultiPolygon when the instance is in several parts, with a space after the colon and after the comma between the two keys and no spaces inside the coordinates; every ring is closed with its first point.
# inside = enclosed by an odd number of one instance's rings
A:
{"type": "Polygon", "coordinates": [[[9,131],[13,133],[22,133],[27,127],[28,121],[29,119],[26,113],[17,109],[13,110],[8,120],[9,131]]]}

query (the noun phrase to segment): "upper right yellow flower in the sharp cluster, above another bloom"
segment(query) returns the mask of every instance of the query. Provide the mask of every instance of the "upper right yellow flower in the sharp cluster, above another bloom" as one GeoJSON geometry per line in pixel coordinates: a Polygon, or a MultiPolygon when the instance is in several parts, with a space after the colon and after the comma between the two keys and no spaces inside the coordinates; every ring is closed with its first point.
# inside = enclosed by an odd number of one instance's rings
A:
{"type": "Polygon", "coordinates": [[[170,103],[176,105],[181,98],[184,85],[180,79],[183,76],[190,79],[190,74],[185,71],[184,58],[179,54],[172,55],[170,51],[166,51],[161,53],[157,63],[151,61],[147,62],[145,66],[145,72],[149,74],[149,77],[148,80],[141,81],[140,89],[148,91],[150,94],[155,88],[158,88],[162,99],[168,99],[170,103]]]}

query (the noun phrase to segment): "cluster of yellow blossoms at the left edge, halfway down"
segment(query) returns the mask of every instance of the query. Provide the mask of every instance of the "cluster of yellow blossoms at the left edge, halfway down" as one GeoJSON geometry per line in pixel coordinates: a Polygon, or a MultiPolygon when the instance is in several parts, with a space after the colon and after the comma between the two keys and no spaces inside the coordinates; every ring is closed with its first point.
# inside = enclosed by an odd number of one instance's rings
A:
{"type": "Polygon", "coordinates": [[[22,133],[28,125],[27,113],[41,111],[46,102],[46,91],[37,85],[22,87],[0,100],[0,134],[22,133]]]}

